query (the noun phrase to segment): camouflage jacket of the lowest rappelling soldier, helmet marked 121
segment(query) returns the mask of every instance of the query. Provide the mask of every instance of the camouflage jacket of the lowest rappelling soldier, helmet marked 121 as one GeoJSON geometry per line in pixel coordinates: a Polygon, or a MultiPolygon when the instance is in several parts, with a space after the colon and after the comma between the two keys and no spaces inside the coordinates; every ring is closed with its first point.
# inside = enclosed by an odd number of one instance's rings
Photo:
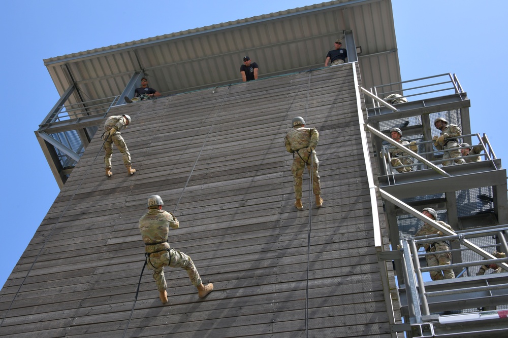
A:
{"type": "Polygon", "coordinates": [[[146,252],[169,249],[169,228],[177,229],[179,222],[172,213],[150,209],[139,219],[139,231],[145,242],[146,252]],[[158,243],[150,245],[150,243],[158,243]]]}

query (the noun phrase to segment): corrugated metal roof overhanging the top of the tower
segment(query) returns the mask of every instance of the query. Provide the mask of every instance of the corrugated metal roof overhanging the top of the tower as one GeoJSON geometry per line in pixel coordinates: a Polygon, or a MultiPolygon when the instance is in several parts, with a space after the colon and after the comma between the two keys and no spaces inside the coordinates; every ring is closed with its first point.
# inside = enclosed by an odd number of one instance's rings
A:
{"type": "MultiPolygon", "coordinates": [[[[120,95],[135,71],[163,95],[241,81],[242,57],[259,64],[260,79],[324,65],[333,42],[351,31],[360,46],[362,81],[400,81],[391,1],[333,1],[45,59],[68,103],[120,95]]],[[[354,48],[353,48],[354,49],[354,48]]],[[[348,48],[350,55],[354,50],[348,48]]]]}

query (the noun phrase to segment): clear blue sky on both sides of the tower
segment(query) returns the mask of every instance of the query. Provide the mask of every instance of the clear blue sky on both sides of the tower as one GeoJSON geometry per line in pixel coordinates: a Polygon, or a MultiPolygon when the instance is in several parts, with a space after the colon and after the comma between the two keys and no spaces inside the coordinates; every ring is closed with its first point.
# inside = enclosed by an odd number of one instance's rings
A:
{"type": "MultiPolygon", "coordinates": [[[[34,133],[59,98],[43,59],[314,3],[319,1],[4,3],[0,285],[59,192],[34,133]]],[[[506,159],[505,104],[497,100],[508,78],[501,40],[508,2],[393,0],[392,6],[402,80],[456,73],[471,100],[471,131],[487,133],[497,157],[506,159]]]]}

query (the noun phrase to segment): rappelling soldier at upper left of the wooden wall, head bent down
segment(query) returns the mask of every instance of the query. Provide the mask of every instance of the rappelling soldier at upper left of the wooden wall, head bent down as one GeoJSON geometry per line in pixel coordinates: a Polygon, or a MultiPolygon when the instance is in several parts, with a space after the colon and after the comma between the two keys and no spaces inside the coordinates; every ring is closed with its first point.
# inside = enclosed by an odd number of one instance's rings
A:
{"type": "Polygon", "coordinates": [[[104,164],[106,165],[106,176],[113,175],[111,172],[113,143],[115,143],[120,153],[122,153],[123,164],[127,168],[129,175],[132,175],[136,172],[136,169],[133,169],[131,166],[131,154],[129,153],[129,149],[125,144],[123,137],[120,135],[120,130],[127,128],[129,123],[131,123],[131,117],[124,114],[110,116],[104,124],[103,138],[105,139],[104,151],[106,152],[106,155],[104,155],[104,164]]]}

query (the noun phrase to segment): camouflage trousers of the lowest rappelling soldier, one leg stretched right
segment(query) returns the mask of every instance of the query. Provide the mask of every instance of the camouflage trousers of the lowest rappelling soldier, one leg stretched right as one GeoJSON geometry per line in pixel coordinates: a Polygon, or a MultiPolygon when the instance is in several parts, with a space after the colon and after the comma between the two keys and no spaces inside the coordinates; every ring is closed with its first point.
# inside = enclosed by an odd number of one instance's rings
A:
{"type": "Polygon", "coordinates": [[[146,266],[148,269],[153,270],[153,279],[157,284],[157,290],[164,291],[168,287],[166,278],[164,278],[164,267],[181,268],[187,271],[190,282],[194,286],[201,285],[201,277],[198,270],[194,266],[194,262],[181,251],[169,249],[168,251],[161,251],[152,253],[146,258],[146,266]]]}

